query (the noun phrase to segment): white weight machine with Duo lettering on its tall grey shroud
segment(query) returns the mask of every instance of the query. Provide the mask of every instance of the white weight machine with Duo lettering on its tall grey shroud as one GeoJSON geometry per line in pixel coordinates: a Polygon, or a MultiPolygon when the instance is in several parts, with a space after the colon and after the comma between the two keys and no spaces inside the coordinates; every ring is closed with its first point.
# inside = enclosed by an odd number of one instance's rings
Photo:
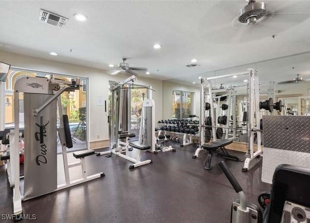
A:
{"type": "Polygon", "coordinates": [[[15,129],[10,131],[10,161],[14,180],[14,214],[22,214],[22,201],[50,192],[78,185],[102,176],[104,173],[87,175],[85,157],[95,154],[94,150],[78,151],[73,157],[79,159],[68,163],[67,149],[71,148],[72,138],[69,120],[62,115],[61,95],[80,88],[79,79],[63,81],[40,77],[23,77],[16,81],[14,88],[15,129]],[[19,166],[19,94],[24,93],[24,187],[20,187],[19,166]],[[58,110],[57,110],[58,107],[58,110]],[[58,115],[58,117],[57,117],[58,115]],[[59,126],[57,125],[59,121],[59,126]],[[57,131],[62,146],[65,182],[57,182],[57,131]],[[81,166],[82,178],[70,180],[69,168],[81,166]],[[23,190],[22,190],[23,189],[23,190]]]}

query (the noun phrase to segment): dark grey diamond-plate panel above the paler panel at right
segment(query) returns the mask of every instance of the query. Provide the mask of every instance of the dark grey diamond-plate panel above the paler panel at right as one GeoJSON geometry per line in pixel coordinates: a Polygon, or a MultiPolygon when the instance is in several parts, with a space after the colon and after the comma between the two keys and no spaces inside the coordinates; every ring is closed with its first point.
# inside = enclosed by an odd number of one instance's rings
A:
{"type": "Polygon", "coordinates": [[[310,153],[310,116],[264,115],[263,146],[310,153]]]}

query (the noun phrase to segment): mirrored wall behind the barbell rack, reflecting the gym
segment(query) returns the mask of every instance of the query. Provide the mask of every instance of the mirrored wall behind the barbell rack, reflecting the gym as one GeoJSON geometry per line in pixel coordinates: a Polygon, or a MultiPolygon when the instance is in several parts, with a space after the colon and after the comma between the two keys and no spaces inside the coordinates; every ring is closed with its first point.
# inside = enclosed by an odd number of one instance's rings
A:
{"type": "MultiPolygon", "coordinates": [[[[201,68],[201,67],[200,67],[201,68]]],[[[163,83],[163,118],[168,120],[182,117],[182,92],[186,92],[191,97],[191,110],[189,113],[199,115],[200,112],[200,77],[210,78],[226,74],[233,74],[247,71],[248,68],[257,70],[260,82],[260,100],[266,100],[268,90],[275,88],[275,100],[281,100],[283,107],[281,111],[274,110],[273,113],[261,110],[262,115],[310,115],[310,52],[290,55],[277,59],[270,59],[262,62],[239,65],[227,69],[207,71],[191,76],[166,80],[163,83]],[[176,112],[178,111],[178,116],[176,112]]],[[[195,67],[190,67],[195,73],[195,67]]],[[[208,68],[205,68],[208,70],[208,68]]],[[[180,74],[182,76],[182,74],[180,74]]],[[[248,103],[247,76],[236,76],[212,80],[213,89],[243,86],[236,89],[236,120],[237,127],[242,128],[246,124],[246,103],[248,103]]],[[[219,93],[220,95],[220,93],[219,93]]],[[[225,100],[223,100],[225,103],[225,100]]],[[[218,115],[218,112],[217,112],[218,115]]],[[[247,142],[247,133],[240,130],[236,141],[247,142]]]]}

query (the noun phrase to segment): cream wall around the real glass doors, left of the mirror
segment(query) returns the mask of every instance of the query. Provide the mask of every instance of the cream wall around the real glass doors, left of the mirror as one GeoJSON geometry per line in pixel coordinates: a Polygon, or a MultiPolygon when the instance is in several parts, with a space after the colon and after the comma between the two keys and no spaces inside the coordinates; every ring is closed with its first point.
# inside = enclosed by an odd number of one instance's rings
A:
{"type": "MultiPolygon", "coordinates": [[[[89,141],[104,141],[109,139],[108,118],[105,115],[104,106],[96,106],[96,97],[103,97],[108,100],[109,80],[122,81],[129,75],[118,74],[109,75],[105,70],[93,69],[85,66],[59,63],[55,61],[43,60],[14,53],[0,51],[0,61],[11,64],[14,67],[33,69],[38,71],[55,72],[58,74],[77,75],[89,78],[89,141]]],[[[155,100],[155,119],[161,120],[162,109],[162,81],[150,78],[138,77],[137,84],[152,86],[156,92],[152,93],[155,100]]],[[[0,110],[1,111],[1,110],[0,110]]]]}

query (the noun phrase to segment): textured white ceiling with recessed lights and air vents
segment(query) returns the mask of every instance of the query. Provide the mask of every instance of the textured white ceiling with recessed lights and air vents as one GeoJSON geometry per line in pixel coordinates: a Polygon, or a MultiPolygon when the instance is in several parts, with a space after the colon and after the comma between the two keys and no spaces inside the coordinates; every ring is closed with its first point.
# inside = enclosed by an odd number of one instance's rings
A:
{"type": "Polygon", "coordinates": [[[310,50],[310,1],[264,2],[276,14],[248,27],[234,20],[244,0],[1,1],[0,50],[100,69],[128,57],[158,79],[310,50]],[[67,25],[40,23],[41,8],[68,17],[67,25]],[[76,13],[88,20],[76,21],[76,13]],[[201,66],[187,68],[192,58],[201,66]]]}

